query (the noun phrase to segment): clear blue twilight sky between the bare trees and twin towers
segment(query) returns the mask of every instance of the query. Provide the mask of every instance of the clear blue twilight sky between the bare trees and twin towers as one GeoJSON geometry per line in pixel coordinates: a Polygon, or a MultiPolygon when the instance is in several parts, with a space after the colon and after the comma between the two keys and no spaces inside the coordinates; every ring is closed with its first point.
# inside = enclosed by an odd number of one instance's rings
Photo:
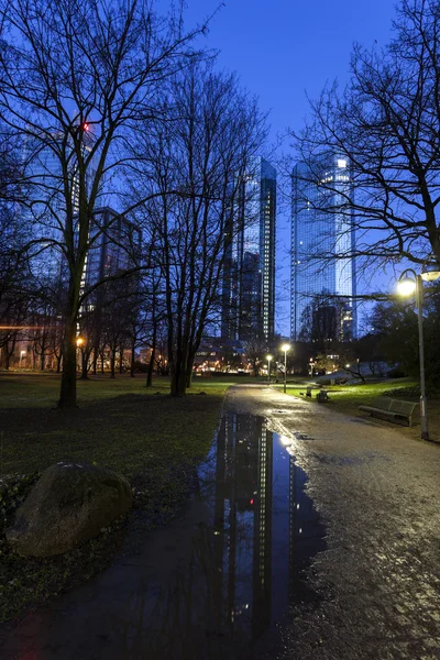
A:
{"type": "MultiPolygon", "coordinates": [[[[220,4],[187,0],[187,26],[220,4]]],[[[301,129],[306,92],[314,97],[328,80],[348,79],[354,42],[385,45],[392,36],[394,0],[226,0],[205,42],[220,51],[219,67],[235,70],[248,90],[270,111],[271,141],[289,127],[301,129]]],[[[288,152],[288,142],[284,145],[288,152]]],[[[289,218],[277,221],[276,330],[288,334],[289,218]]],[[[365,290],[362,280],[360,293],[365,290]]],[[[370,283],[371,287],[371,283],[370,283]]]]}

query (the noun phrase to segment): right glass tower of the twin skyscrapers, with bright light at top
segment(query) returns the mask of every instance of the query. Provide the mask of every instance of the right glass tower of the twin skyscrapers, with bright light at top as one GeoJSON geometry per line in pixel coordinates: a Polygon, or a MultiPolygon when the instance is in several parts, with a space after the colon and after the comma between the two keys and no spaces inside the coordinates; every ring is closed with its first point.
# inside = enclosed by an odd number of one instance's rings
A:
{"type": "Polygon", "coordinates": [[[350,163],[332,152],[294,167],[290,337],[356,336],[350,163]]]}

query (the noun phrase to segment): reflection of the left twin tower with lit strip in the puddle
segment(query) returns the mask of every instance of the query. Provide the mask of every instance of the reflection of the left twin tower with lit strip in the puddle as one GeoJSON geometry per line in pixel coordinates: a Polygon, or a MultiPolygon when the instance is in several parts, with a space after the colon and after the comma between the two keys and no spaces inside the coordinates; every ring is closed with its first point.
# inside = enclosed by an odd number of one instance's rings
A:
{"type": "Polygon", "coordinates": [[[222,568],[218,606],[222,620],[242,639],[254,640],[271,625],[272,462],[272,433],[263,418],[224,416],[215,505],[216,554],[222,568]]]}

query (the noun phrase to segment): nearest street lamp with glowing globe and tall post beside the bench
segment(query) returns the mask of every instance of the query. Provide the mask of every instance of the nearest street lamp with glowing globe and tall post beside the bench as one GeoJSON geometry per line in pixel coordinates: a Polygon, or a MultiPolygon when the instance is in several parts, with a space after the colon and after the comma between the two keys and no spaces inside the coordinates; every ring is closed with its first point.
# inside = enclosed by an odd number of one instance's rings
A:
{"type": "Polygon", "coordinates": [[[440,278],[440,267],[438,264],[428,264],[421,268],[418,275],[413,268],[407,268],[402,273],[397,282],[397,290],[402,296],[411,296],[416,294],[417,319],[419,328],[419,359],[420,359],[420,424],[421,439],[429,440],[428,431],[428,409],[426,400],[425,386],[425,346],[424,346],[424,284],[425,282],[436,282],[440,278]]]}

